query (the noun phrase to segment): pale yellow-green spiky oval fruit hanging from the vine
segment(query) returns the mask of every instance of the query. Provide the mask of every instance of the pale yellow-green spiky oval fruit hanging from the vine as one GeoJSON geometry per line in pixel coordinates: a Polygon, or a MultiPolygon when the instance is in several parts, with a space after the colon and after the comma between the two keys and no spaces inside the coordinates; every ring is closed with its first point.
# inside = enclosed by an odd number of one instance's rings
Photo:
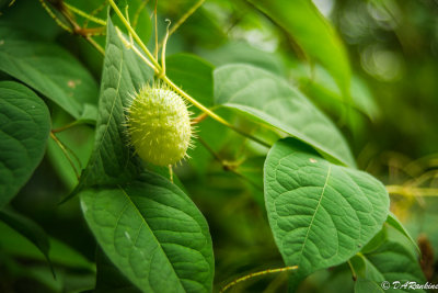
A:
{"type": "Polygon", "coordinates": [[[168,166],[187,155],[192,138],[187,105],[166,86],[142,87],[128,108],[127,124],[131,144],[143,160],[168,166]]]}

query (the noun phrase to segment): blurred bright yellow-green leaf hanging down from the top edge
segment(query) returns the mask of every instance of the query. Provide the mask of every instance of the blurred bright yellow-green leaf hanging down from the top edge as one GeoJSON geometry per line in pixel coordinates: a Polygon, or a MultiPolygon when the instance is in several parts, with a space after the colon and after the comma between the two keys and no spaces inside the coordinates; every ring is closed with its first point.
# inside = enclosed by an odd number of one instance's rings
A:
{"type": "Polygon", "coordinates": [[[350,68],[346,49],[333,29],[310,0],[249,0],[281,26],[313,59],[320,61],[348,97],[350,68]]]}

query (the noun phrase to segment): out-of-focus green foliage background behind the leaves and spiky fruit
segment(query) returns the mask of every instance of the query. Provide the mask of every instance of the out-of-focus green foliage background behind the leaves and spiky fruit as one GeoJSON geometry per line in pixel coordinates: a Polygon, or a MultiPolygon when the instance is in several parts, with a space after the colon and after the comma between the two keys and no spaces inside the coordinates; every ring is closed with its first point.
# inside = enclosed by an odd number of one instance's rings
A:
{"type": "MultiPolygon", "coordinates": [[[[67,2],[92,12],[104,1],[67,2]]],[[[153,2],[145,8],[139,18],[142,22],[138,23],[140,36],[149,40],[151,48],[153,2]]],[[[422,252],[429,256],[422,261],[423,270],[428,272],[429,282],[438,283],[438,2],[313,1],[345,44],[353,72],[349,100],[339,89],[337,77],[330,72],[336,64],[324,68],[318,58],[315,63],[303,53],[293,32],[278,26],[266,15],[268,12],[254,9],[251,2],[207,0],[170,37],[169,76],[177,80],[181,68],[203,68],[204,76],[193,77],[199,88],[183,89],[206,101],[211,93],[201,86],[212,82],[212,66],[231,63],[267,69],[299,87],[347,137],[358,168],[389,187],[392,212],[415,239],[420,236],[422,252]]],[[[132,3],[131,20],[141,1],[132,3]]],[[[165,32],[164,19],[175,23],[193,3],[158,1],[160,40],[165,32]]],[[[62,47],[89,69],[93,82],[100,82],[102,55],[80,36],[60,29],[38,1],[0,1],[0,11],[2,23],[13,23],[42,42],[62,47]]],[[[96,16],[104,19],[105,13],[106,9],[100,9],[96,16]]],[[[87,23],[80,16],[77,21],[80,25],[87,23]]],[[[97,36],[96,42],[104,45],[104,36],[97,36]]],[[[11,72],[0,74],[0,80],[14,78],[11,72]]],[[[184,84],[184,80],[178,81],[184,84]]],[[[53,128],[72,121],[53,101],[45,101],[53,128]]],[[[229,112],[219,111],[265,140],[275,142],[283,135],[229,112]]],[[[78,158],[70,156],[79,171],[87,166],[92,150],[93,123],[87,120],[58,135],[73,149],[78,158]]],[[[208,147],[198,140],[191,153],[192,161],[184,162],[176,173],[209,224],[216,258],[215,288],[251,272],[284,267],[266,218],[263,182],[257,181],[263,171],[261,156],[267,149],[210,119],[199,124],[198,132],[208,147]],[[215,158],[208,148],[218,156],[215,158]]],[[[72,199],[58,205],[76,184],[69,161],[50,140],[43,162],[11,205],[49,235],[49,259],[57,278],[51,277],[44,255],[28,239],[0,223],[0,292],[81,292],[94,288],[96,244],[81,216],[79,201],[72,199]]],[[[103,257],[100,251],[97,256],[103,257]]],[[[228,292],[284,292],[286,286],[284,272],[247,280],[228,292]]],[[[351,292],[353,286],[351,272],[343,264],[313,273],[301,284],[300,292],[351,292]]]]}

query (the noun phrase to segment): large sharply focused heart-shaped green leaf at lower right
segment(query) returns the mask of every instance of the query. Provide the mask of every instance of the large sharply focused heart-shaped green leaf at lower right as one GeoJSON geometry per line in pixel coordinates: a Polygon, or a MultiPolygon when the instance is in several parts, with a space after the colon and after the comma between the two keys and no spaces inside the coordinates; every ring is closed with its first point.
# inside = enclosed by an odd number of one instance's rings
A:
{"type": "Polygon", "coordinates": [[[333,165],[291,138],[276,143],[265,162],[265,204],[292,285],[339,264],[382,227],[389,210],[383,184],[368,173],[333,165]]]}

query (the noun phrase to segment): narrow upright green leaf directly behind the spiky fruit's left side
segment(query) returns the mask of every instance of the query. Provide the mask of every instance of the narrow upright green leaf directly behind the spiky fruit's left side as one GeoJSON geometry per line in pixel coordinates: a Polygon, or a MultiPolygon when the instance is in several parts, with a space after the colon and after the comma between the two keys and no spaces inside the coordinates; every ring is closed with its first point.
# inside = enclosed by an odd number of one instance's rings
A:
{"type": "Polygon", "coordinates": [[[140,161],[129,147],[125,109],[130,94],[152,77],[152,69],[123,45],[108,18],[94,149],[78,190],[127,182],[139,172],[140,161]]]}

